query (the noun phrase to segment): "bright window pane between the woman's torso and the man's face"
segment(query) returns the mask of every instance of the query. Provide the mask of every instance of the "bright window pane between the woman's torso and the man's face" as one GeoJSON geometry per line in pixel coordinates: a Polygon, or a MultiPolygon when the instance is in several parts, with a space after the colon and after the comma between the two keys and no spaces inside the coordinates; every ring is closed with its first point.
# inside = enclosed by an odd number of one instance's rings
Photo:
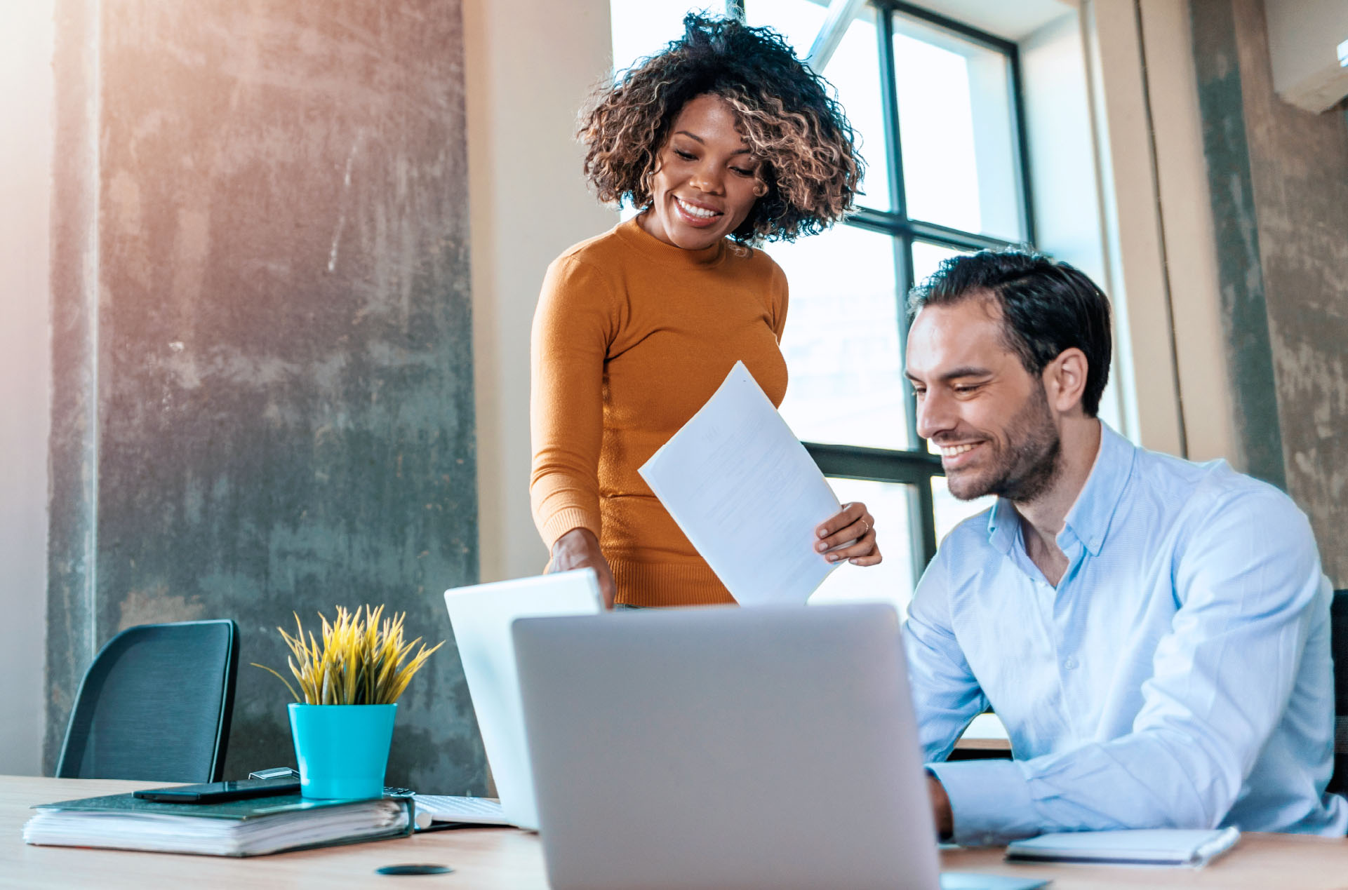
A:
{"type": "Polygon", "coordinates": [[[894,240],[837,225],[768,246],[791,288],[782,416],[806,442],[907,448],[894,240]]]}

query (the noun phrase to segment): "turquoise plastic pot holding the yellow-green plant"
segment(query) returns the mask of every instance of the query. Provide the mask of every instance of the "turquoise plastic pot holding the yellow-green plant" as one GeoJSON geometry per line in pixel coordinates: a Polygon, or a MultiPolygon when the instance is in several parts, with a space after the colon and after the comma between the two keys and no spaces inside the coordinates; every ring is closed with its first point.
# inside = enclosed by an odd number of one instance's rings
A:
{"type": "Polygon", "coordinates": [[[290,704],[290,735],[305,797],[384,793],[396,704],[290,704]]]}

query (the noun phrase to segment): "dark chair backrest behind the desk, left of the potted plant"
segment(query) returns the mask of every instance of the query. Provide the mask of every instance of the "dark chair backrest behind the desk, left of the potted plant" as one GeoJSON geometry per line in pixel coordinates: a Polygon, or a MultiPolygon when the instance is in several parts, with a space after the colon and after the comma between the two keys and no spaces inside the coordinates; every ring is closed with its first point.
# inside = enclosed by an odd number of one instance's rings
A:
{"type": "Polygon", "coordinates": [[[232,621],[123,630],[80,683],[57,776],[220,781],[237,672],[232,621]]]}

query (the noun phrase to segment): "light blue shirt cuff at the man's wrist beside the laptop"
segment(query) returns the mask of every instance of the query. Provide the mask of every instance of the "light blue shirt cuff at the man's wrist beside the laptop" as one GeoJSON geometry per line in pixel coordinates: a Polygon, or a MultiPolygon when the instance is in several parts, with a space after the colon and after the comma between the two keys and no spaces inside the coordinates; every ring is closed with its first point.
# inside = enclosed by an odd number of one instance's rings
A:
{"type": "Polygon", "coordinates": [[[926,766],[950,798],[954,843],[1004,844],[1042,829],[1030,784],[1015,761],[956,761],[926,766]]]}

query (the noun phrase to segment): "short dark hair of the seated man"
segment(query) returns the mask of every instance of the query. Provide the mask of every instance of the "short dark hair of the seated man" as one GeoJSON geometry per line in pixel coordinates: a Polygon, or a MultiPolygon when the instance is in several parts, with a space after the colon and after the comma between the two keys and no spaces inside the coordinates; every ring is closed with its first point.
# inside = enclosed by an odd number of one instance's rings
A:
{"type": "Polygon", "coordinates": [[[909,294],[909,322],[926,306],[987,298],[1002,310],[1007,349],[1034,376],[1064,350],[1085,353],[1081,408],[1095,417],[1109,378],[1109,300],[1066,263],[1024,250],[980,250],[950,257],[909,294]]]}

